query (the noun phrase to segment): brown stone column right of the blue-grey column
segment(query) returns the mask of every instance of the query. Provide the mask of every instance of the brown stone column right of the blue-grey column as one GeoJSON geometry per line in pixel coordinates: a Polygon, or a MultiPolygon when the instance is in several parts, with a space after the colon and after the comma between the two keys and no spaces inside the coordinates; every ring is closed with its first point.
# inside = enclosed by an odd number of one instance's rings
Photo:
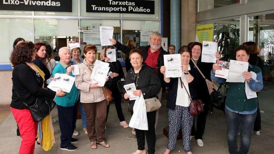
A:
{"type": "Polygon", "coordinates": [[[195,41],[196,1],[181,0],[181,46],[195,41]]]}

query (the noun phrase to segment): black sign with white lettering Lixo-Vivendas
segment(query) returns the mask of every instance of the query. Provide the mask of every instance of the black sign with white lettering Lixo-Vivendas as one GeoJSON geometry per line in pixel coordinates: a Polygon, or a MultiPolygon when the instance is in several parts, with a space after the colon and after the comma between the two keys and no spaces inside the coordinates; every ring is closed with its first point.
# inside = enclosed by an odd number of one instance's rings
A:
{"type": "Polygon", "coordinates": [[[0,10],[72,12],[72,0],[0,0],[0,10]]]}

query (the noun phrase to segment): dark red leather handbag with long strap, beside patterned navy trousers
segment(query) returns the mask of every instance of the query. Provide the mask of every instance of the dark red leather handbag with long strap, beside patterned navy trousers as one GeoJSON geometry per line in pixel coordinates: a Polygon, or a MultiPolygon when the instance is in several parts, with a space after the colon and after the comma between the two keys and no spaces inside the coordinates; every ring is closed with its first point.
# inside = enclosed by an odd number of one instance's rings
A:
{"type": "MultiPolygon", "coordinates": [[[[185,90],[187,91],[187,88],[182,82],[181,77],[180,77],[180,81],[181,81],[181,87],[183,88],[184,86],[185,90]]],[[[202,102],[202,100],[192,100],[188,91],[187,91],[187,95],[190,100],[190,105],[189,105],[190,114],[193,116],[198,116],[200,113],[204,112],[204,103],[202,102]]]]}

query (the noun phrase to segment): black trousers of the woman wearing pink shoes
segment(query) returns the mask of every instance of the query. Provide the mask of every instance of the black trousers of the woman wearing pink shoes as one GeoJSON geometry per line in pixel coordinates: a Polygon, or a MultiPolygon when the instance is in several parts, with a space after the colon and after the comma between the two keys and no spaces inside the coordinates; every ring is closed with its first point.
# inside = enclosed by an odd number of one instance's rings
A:
{"type": "MultiPolygon", "coordinates": [[[[114,97],[115,108],[116,108],[116,111],[117,111],[118,118],[119,118],[120,122],[125,121],[125,117],[124,117],[123,110],[122,110],[122,105],[121,105],[122,95],[119,92],[118,88],[112,90],[111,92],[112,92],[112,96],[114,97]]],[[[107,117],[108,117],[109,107],[110,107],[110,104],[107,105],[106,120],[107,120],[107,117]]]]}

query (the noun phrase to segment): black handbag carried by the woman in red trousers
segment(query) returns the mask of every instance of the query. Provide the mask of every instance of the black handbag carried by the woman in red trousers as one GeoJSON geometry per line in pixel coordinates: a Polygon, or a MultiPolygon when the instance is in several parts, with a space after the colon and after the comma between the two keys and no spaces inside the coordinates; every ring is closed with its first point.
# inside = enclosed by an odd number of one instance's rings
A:
{"type": "MultiPolygon", "coordinates": [[[[18,95],[18,93],[17,93],[17,96],[20,98],[20,96],[18,95]]],[[[56,103],[54,102],[54,100],[52,100],[50,98],[45,98],[45,97],[36,97],[36,101],[35,101],[35,103],[33,105],[27,105],[24,101],[23,101],[23,103],[30,110],[32,119],[35,122],[38,122],[38,121],[42,120],[43,118],[45,118],[47,115],[49,115],[50,111],[56,105],[56,103]]]]}

